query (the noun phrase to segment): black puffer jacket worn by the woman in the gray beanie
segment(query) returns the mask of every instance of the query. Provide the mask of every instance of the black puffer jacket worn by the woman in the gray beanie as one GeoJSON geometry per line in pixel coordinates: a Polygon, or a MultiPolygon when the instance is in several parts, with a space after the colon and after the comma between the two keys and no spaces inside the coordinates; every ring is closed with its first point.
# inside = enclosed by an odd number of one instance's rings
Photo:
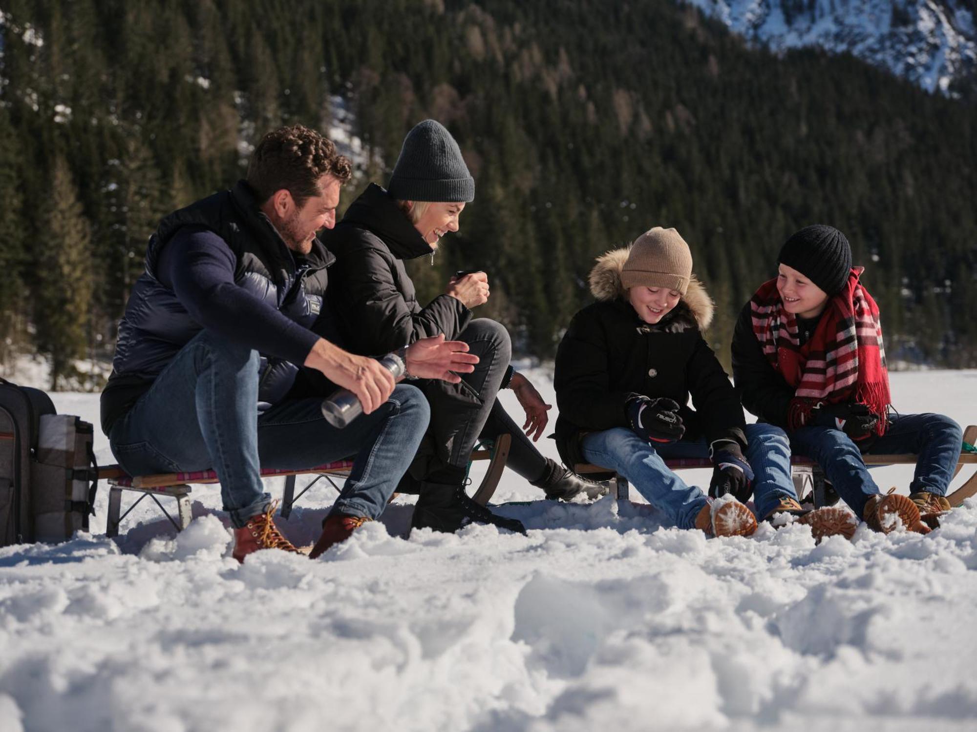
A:
{"type": "Polygon", "coordinates": [[[431,254],[431,246],[379,185],[371,183],[322,241],[336,256],[327,297],[355,353],[387,353],[439,333],[452,340],[471,320],[449,295],[417,302],[404,260],[431,254]]]}

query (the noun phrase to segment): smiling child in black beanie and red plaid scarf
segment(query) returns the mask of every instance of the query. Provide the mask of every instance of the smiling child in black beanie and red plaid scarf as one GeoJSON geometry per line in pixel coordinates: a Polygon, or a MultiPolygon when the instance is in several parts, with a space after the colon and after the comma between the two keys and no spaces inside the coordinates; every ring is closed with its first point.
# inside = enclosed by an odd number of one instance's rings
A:
{"type": "Polygon", "coordinates": [[[898,516],[925,534],[950,509],[944,496],[962,432],[943,415],[890,412],[878,306],[861,273],[852,267],[848,239],[833,226],[793,234],[777,277],[743,307],[733,375],[746,409],[784,427],[793,451],[818,462],[856,516],[884,533],[898,516]],[[863,453],[917,453],[912,495],[881,495],[863,453]]]}

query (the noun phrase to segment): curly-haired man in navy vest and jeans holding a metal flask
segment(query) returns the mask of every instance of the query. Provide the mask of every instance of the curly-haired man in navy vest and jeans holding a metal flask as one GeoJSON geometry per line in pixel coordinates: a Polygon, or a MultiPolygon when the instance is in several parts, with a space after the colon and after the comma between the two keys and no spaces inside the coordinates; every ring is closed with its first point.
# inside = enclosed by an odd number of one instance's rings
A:
{"type": "MultiPolygon", "coordinates": [[[[355,455],[313,554],[386,506],[428,425],[413,386],[376,360],[310,330],[332,256],[316,232],[335,224],[350,161],[302,126],[269,133],[247,178],[164,218],[119,324],[102,424],[133,474],[214,468],[234,525],[234,557],[296,551],[278,532],[260,467],[313,468],[355,455]],[[352,390],[363,416],[345,429],[321,399],[287,398],[300,367],[352,390]]],[[[321,332],[321,331],[319,331],[321,332]]],[[[478,361],[430,338],[404,349],[407,373],[458,381],[478,361]]]]}

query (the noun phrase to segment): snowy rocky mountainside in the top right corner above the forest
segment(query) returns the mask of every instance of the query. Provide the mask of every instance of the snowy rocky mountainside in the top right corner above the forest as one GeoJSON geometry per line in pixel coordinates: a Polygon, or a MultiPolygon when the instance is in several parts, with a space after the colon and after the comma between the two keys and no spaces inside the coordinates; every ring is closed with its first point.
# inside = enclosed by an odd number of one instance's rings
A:
{"type": "Polygon", "coordinates": [[[783,51],[850,52],[931,92],[977,70],[967,0],[686,0],[733,31],[783,51]]]}

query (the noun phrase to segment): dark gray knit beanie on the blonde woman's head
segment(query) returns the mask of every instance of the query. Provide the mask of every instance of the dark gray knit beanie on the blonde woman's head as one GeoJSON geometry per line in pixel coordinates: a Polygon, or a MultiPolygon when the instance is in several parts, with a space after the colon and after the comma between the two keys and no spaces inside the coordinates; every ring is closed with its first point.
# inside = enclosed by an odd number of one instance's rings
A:
{"type": "Polygon", "coordinates": [[[475,180],[451,133],[426,119],[404,138],[387,192],[401,201],[467,203],[475,198],[475,180]]]}

